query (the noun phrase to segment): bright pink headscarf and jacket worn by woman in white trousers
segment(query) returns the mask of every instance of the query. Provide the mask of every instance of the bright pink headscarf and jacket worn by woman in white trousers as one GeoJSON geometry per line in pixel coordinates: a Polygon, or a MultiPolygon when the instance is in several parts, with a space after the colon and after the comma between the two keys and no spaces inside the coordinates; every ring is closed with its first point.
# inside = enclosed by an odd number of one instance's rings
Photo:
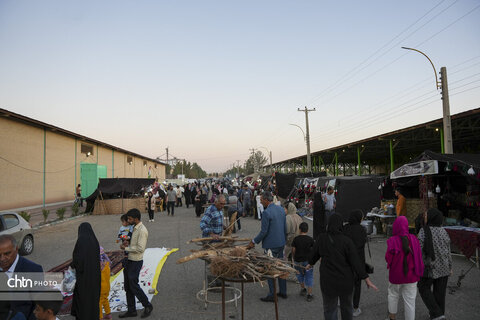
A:
{"type": "Polygon", "coordinates": [[[414,283],[423,275],[423,258],[420,242],[413,234],[408,233],[408,221],[404,216],[398,217],[393,223],[393,236],[387,240],[387,252],[385,260],[389,269],[388,280],[393,284],[414,283]],[[408,272],[403,273],[403,259],[405,253],[402,250],[402,236],[408,238],[410,253],[407,255],[408,272]]]}

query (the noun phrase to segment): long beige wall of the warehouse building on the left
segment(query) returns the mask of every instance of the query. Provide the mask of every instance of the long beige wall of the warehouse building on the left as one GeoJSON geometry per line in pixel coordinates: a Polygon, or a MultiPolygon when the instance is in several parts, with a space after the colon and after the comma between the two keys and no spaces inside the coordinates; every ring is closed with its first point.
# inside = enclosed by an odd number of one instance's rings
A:
{"type": "MultiPolygon", "coordinates": [[[[165,179],[165,166],[153,161],[113,151],[114,178],[165,179]],[[127,162],[132,157],[132,164],[127,162]]],[[[0,210],[73,201],[75,187],[81,184],[80,165],[98,163],[107,167],[112,178],[112,149],[44,130],[9,118],[0,118],[0,210]],[[82,144],[93,146],[87,157],[82,144]],[[44,161],[45,157],[45,161],[44,161]],[[98,161],[98,162],[97,162],[98,161]],[[45,163],[45,174],[44,174],[45,163]],[[44,179],[45,177],[45,179],[44,179]]]]}

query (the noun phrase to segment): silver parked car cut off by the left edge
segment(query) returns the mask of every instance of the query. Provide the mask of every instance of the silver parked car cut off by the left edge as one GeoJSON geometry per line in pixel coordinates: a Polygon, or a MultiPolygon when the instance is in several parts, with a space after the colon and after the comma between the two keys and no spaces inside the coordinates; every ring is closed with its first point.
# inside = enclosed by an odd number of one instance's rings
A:
{"type": "Polygon", "coordinates": [[[29,255],[33,252],[33,229],[16,212],[0,212],[0,235],[10,234],[17,241],[18,252],[29,255]]]}

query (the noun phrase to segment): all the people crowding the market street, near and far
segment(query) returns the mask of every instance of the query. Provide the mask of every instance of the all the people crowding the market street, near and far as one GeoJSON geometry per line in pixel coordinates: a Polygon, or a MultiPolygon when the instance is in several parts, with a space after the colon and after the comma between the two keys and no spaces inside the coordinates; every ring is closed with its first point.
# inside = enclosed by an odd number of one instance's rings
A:
{"type": "MultiPolygon", "coordinates": [[[[333,192],[318,192],[313,197],[314,232],[311,237],[308,224],[297,214],[296,204],[287,201],[280,205],[272,192],[274,190],[274,184],[255,188],[251,185],[235,187],[228,183],[192,183],[176,188],[170,185],[164,197],[167,214],[172,216],[175,207],[181,207],[183,203],[187,207],[195,204],[196,216],[201,217],[199,227],[202,237],[212,241],[218,241],[226,228],[225,214],[231,217],[236,213],[237,230],[242,230],[240,217],[259,218],[260,230],[248,248],[261,244],[265,254],[291,263],[297,270],[299,294],[307,302],[314,300],[313,266],[319,262],[324,318],[337,319],[338,309],[342,319],[359,316],[362,313],[362,281],[367,288],[378,290],[369,278],[368,272],[371,271],[365,261],[368,237],[361,225],[363,212],[354,210],[345,219],[344,215],[335,212],[333,192]],[[228,210],[224,211],[227,204],[228,210]]],[[[158,194],[158,190],[152,189],[146,198],[149,222],[154,222],[158,194]]],[[[404,303],[405,319],[415,319],[417,290],[429,310],[430,318],[445,319],[446,287],[452,273],[452,258],[449,236],[441,227],[442,216],[439,210],[429,209],[423,216],[423,226],[418,235],[409,232],[405,216],[400,215],[394,221],[385,253],[389,274],[387,319],[396,319],[400,297],[404,303]]],[[[128,308],[119,318],[137,317],[136,299],[144,307],[141,317],[146,318],[151,315],[153,305],[139,286],[139,274],[148,230],[141,222],[138,209],[122,215],[121,223],[117,242],[125,255],[122,265],[128,308]]],[[[71,267],[76,273],[71,314],[80,320],[111,319],[108,303],[110,260],[88,222],[78,227],[71,267]]],[[[19,256],[15,239],[4,235],[0,236],[0,271],[0,275],[6,275],[13,271],[42,272],[43,269],[19,256]]],[[[288,298],[284,277],[268,279],[268,287],[268,293],[260,298],[261,301],[274,302],[275,296],[288,298]],[[278,281],[276,293],[273,281],[278,281]]],[[[0,301],[0,319],[53,320],[61,305],[61,301],[0,301]]]]}

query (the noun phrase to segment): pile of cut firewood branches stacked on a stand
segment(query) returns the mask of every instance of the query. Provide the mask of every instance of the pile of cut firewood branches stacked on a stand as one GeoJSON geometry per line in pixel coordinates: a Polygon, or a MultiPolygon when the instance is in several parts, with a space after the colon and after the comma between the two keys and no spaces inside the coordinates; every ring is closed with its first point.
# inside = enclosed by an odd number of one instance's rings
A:
{"type": "MultiPolygon", "coordinates": [[[[205,239],[208,238],[202,240],[205,239]]],[[[192,250],[191,255],[177,260],[177,264],[203,259],[209,262],[211,273],[217,277],[253,280],[254,282],[260,282],[265,278],[283,277],[288,273],[296,272],[284,260],[255,250],[248,250],[246,246],[233,245],[236,241],[250,241],[250,239],[231,237],[220,237],[220,239],[221,242],[203,244],[201,250],[192,250]]],[[[194,239],[190,243],[200,241],[200,239],[194,239]]]]}

